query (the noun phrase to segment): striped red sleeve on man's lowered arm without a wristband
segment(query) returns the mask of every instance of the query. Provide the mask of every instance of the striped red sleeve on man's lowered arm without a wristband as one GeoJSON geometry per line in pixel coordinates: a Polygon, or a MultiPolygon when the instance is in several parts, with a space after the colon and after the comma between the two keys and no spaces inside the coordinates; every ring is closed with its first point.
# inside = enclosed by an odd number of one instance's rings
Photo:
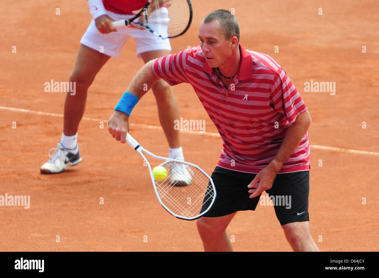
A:
{"type": "Polygon", "coordinates": [[[308,109],[283,68],[277,71],[273,80],[271,100],[274,103],[274,108],[286,116],[290,125],[293,124],[299,114],[308,109]]]}

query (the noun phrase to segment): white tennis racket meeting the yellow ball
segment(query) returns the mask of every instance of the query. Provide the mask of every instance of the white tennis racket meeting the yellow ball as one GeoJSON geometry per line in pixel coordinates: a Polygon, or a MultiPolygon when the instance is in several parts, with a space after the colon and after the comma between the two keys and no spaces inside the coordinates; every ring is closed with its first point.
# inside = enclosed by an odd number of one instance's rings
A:
{"type": "Polygon", "coordinates": [[[216,189],[211,177],[204,170],[189,162],[154,155],[141,147],[130,134],[127,134],[126,141],[146,162],[155,194],[163,208],[184,220],[195,220],[209,211],[216,199],[216,189]],[[168,176],[165,180],[154,179],[150,163],[142,152],[163,160],[159,166],[167,169],[168,176]]]}

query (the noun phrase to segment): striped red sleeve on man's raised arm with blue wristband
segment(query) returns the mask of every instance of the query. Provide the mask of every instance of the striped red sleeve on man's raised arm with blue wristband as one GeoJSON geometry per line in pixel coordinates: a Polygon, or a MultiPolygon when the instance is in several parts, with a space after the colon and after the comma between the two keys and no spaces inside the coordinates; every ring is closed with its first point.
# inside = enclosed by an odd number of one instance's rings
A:
{"type": "Polygon", "coordinates": [[[153,73],[171,86],[188,83],[186,76],[188,55],[189,53],[186,49],[176,54],[154,59],[152,64],[153,73]]]}

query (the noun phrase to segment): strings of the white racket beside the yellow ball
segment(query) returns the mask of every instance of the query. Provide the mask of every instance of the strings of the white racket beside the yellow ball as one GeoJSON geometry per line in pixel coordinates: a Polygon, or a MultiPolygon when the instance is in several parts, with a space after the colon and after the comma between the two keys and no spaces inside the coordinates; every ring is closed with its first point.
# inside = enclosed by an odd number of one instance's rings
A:
{"type": "Polygon", "coordinates": [[[179,216],[194,217],[211,205],[215,192],[204,172],[179,162],[168,162],[162,166],[169,175],[163,181],[155,181],[155,186],[168,209],[179,216]],[[181,169],[179,175],[178,169],[181,169]]]}

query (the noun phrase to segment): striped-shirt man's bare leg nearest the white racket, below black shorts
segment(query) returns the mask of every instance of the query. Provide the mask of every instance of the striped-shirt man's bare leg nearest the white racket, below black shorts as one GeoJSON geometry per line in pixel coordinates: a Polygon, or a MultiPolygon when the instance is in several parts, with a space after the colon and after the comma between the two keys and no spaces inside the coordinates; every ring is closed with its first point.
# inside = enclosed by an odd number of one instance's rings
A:
{"type": "Polygon", "coordinates": [[[236,212],[221,217],[201,217],[196,221],[206,252],[233,251],[232,243],[226,233],[226,228],[236,212]]]}

